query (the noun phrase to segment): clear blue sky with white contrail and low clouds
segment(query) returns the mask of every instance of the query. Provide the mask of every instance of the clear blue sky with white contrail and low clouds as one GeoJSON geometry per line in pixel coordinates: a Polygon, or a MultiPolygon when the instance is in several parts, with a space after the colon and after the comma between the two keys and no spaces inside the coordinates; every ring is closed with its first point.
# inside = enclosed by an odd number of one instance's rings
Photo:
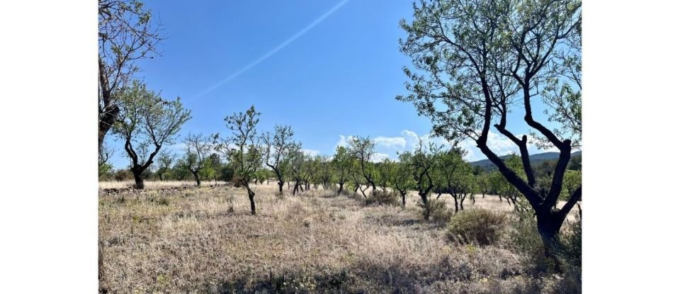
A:
{"type": "MultiPolygon", "coordinates": [[[[402,67],[411,61],[398,40],[405,37],[399,19],[411,19],[411,1],[145,3],[168,38],[159,45],[162,57],[139,63],[140,76],[149,89],[180,96],[191,109],[179,139],[190,131],[225,133],[225,116],[251,105],[262,113],[259,130],[292,125],[295,139],[312,153],[332,154],[359,135],[376,138],[376,159],[393,159],[430,131],[411,103],[395,100],[407,94],[402,67]]],[[[112,139],[108,135],[116,150],[112,164],[125,167],[122,143],[112,139]]],[[[491,144],[499,153],[514,149],[497,139],[491,144]]],[[[469,142],[465,147],[468,159],[485,158],[469,142]]]]}

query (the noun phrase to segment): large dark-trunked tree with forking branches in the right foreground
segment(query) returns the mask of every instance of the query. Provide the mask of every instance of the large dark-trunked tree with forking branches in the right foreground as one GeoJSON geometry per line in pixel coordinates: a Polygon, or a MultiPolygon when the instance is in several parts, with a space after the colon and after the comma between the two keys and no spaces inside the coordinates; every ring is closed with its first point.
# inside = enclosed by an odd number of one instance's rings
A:
{"type": "Polygon", "coordinates": [[[557,235],[582,193],[579,186],[553,209],[581,132],[581,1],[421,1],[412,23],[401,26],[408,34],[401,50],[416,70],[404,68],[410,94],[397,99],[414,103],[436,135],[476,142],[528,200],[545,255],[555,259],[557,235]],[[547,121],[534,115],[539,103],[548,109],[547,121]],[[560,152],[547,193],[536,188],[528,136],[506,128],[512,110],[543,147],[560,152]],[[519,148],[526,180],[489,146],[492,128],[519,148]]]}

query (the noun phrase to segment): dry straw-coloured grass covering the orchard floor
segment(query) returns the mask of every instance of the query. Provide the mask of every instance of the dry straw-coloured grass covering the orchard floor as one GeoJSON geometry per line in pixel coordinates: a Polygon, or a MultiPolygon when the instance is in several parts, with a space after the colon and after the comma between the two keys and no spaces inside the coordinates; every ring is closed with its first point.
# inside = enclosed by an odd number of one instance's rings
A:
{"type": "MultiPolygon", "coordinates": [[[[280,197],[276,183],[254,187],[256,216],[244,189],[232,187],[100,195],[101,286],[110,293],[550,293],[559,282],[530,278],[522,257],[502,246],[448,242],[445,228],[421,221],[414,196],[402,209],[332,191],[280,197]]],[[[497,197],[465,204],[511,210],[497,197]]]]}

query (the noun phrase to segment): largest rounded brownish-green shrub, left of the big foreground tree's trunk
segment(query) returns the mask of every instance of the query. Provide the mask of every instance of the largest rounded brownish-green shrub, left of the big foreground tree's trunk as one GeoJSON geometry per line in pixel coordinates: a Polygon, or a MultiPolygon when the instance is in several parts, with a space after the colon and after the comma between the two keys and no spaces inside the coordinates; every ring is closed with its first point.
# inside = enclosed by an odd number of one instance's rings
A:
{"type": "Polygon", "coordinates": [[[448,226],[447,237],[458,244],[486,246],[498,241],[505,215],[489,210],[462,210],[453,215],[448,226]]]}

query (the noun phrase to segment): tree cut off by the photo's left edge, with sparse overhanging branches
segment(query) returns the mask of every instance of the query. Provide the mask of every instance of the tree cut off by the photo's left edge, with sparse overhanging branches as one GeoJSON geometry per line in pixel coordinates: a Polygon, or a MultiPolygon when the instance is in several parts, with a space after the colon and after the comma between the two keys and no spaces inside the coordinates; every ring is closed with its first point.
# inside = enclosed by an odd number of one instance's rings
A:
{"type": "Polygon", "coordinates": [[[137,60],[153,58],[163,39],[152,13],[138,0],[99,0],[99,152],[121,112],[121,96],[140,71],[137,60]]]}

